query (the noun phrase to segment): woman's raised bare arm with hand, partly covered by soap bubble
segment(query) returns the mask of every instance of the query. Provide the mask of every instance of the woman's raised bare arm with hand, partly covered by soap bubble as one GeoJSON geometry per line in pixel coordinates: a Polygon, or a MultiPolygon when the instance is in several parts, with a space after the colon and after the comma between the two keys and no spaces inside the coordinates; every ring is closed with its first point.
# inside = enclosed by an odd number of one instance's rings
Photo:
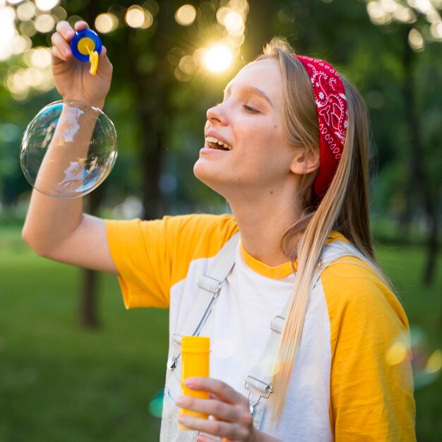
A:
{"type": "MultiPolygon", "coordinates": [[[[87,28],[85,22],[76,23],[76,30],[87,28]]],[[[102,108],[109,91],[112,65],[103,47],[96,76],[88,72],[88,65],[73,58],[69,43],[74,31],[66,21],[57,25],[52,35],[52,73],[56,88],[64,100],[78,100],[102,108]]],[[[62,112],[59,124],[63,124],[62,112]]],[[[93,125],[79,131],[78,149],[88,146],[93,125]]],[[[57,155],[57,133],[54,133],[48,155],[57,155]]],[[[45,174],[56,174],[51,162],[40,168],[38,180],[45,174]]],[[[107,246],[104,221],[83,214],[80,198],[61,199],[32,191],[28,215],[23,227],[23,239],[41,256],[56,261],[117,274],[107,246]]]]}

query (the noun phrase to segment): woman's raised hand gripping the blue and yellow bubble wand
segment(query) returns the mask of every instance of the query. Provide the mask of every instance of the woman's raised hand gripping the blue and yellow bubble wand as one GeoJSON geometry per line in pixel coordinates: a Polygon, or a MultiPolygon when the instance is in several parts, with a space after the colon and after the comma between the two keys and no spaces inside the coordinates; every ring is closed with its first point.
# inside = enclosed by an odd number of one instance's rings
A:
{"type": "MultiPolygon", "coordinates": [[[[86,28],[85,21],[75,24],[76,31],[86,28]]],[[[77,60],[72,54],[70,42],[74,35],[75,31],[64,20],[56,25],[56,32],[52,34],[52,75],[56,89],[64,100],[78,100],[102,109],[112,79],[112,64],[106,56],[106,48],[102,47],[97,74],[92,76],[90,64],[77,60]]]]}

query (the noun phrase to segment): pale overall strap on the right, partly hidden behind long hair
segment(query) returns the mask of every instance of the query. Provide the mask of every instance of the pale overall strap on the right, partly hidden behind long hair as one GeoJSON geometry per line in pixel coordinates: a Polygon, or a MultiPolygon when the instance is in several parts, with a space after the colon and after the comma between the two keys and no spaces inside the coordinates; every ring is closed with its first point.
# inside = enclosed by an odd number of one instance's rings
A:
{"type": "MultiPolygon", "coordinates": [[[[332,244],[324,246],[318,269],[313,274],[311,280],[310,293],[312,292],[313,287],[317,284],[325,268],[343,256],[357,256],[357,258],[361,258],[365,262],[368,262],[359,250],[351,244],[343,241],[335,241],[332,244]]],[[[253,425],[257,428],[261,425],[265,410],[264,401],[261,401],[261,399],[268,399],[270,394],[273,393],[271,382],[273,378],[277,345],[280,341],[290,301],[291,299],[287,301],[282,312],[275,316],[270,323],[270,337],[265,345],[263,353],[261,354],[261,359],[259,359],[258,364],[251,370],[244,383],[244,387],[249,391],[249,404],[250,412],[253,414],[253,425]]]]}

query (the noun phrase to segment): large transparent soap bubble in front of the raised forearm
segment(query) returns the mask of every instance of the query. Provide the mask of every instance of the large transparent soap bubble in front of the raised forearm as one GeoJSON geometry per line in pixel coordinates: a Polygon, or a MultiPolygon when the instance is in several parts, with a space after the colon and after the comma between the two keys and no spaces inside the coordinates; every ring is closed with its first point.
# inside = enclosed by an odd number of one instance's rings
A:
{"type": "Polygon", "coordinates": [[[76,198],[96,189],[114,167],[117,133],[97,107],[78,101],[48,104],[23,134],[20,165],[46,195],[76,198]]]}

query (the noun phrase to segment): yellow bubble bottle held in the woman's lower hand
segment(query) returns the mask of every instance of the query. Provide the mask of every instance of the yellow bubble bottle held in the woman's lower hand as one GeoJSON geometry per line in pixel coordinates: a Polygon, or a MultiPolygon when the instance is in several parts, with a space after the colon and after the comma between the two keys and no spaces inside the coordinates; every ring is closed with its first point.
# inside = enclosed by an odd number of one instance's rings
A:
{"type": "MultiPolygon", "coordinates": [[[[181,340],[181,395],[191,396],[192,398],[208,399],[207,391],[196,391],[187,388],[184,381],[192,376],[209,376],[209,352],[210,338],[205,336],[183,336],[181,340]]],[[[208,415],[200,412],[181,409],[180,414],[189,414],[190,416],[208,419],[208,415]]],[[[181,430],[186,430],[185,426],[178,425],[181,430]]]]}

